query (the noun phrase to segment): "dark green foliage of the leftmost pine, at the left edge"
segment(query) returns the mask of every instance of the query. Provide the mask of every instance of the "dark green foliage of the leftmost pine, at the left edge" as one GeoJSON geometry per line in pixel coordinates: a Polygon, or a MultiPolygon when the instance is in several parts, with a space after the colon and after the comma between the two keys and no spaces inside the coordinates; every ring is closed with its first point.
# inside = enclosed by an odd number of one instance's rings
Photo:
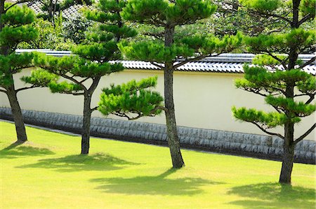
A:
{"type": "MultiPolygon", "coordinates": [[[[10,4],[6,4],[6,8],[8,6],[10,4]]],[[[13,6],[1,15],[1,22],[4,23],[4,27],[0,31],[0,48],[2,49],[0,53],[0,87],[4,89],[14,86],[13,74],[34,66],[32,62],[33,53],[15,54],[15,49],[19,43],[30,42],[39,35],[38,31],[32,27],[34,18],[33,11],[27,6],[13,6]]],[[[38,73],[44,72],[34,71],[30,77],[25,78],[37,79],[38,73]]],[[[41,80],[37,86],[44,86],[53,80],[51,75],[48,73],[46,75],[48,75],[48,78],[41,80]]]]}

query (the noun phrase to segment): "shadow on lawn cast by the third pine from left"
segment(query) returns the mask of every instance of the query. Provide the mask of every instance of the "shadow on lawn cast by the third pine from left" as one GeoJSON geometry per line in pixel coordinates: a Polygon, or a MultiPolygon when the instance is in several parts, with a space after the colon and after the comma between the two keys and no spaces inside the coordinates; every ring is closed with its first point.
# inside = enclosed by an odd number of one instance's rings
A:
{"type": "Polygon", "coordinates": [[[202,178],[166,178],[175,173],[176,169],[157,176],[137,176],[135,178],[96,178],[91,182],[98,182],[101,189],[108,193],[119,194],[149,194],[149,195],[188,195],[192,196],[203,192],[202,185],[217,185],[220,182],[211,182],[202,178]]]}

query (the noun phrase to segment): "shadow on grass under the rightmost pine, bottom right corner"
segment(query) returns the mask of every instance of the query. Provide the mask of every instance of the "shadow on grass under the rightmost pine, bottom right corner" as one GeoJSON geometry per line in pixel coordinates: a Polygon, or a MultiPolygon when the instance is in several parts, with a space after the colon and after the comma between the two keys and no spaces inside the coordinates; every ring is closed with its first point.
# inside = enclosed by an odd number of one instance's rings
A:
{"type": "Polygon", "coordinates": [[[244,208],[315,208],[315,189],[264,183],[233,187],[228,194],[250,198],[230,204],[244,208]]]}

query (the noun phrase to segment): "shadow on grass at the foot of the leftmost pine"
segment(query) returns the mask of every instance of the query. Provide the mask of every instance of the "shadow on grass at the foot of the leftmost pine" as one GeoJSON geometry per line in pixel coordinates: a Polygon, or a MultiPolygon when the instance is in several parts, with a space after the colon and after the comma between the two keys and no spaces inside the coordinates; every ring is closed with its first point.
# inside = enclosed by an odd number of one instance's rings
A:
{"type": "Polygon", "coordinates": [[[8,147],[0,150],[1,158],[14,159],[25,156],[39,156],[46,154],[55,154],[47,148],[34,147],[29,143],[15,142],[8,147]]]}

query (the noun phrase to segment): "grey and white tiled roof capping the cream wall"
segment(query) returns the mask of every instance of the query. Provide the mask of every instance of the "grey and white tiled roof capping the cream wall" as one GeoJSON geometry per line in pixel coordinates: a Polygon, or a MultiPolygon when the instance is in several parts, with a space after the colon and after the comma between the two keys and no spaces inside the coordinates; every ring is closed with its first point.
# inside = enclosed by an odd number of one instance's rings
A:
{"type": "MultiPolygon", "coordinates": [[[[70,56],[70,51],[52,51],[52,50],[17,50],[20,52],[38,51],[46,53],[46,55],[62,57],[70,56]]],[[[183,66],[180,66],[176,71],[192,71],[192,72],[213,72],[213,73],[244,73],[243,65],[250,63],[254,58],[253,54],[222,54],[217,57],[206,57],[205,59],[188,62],[183,66]]],[[[316,55],[299,55],[298,58],[303,62],[307,62],[316,55]]],[[[154,66],[150,62],[143,61],[131,61],[131,60],[119,60],[126,69],[136,70],[159,70],[157,66],[154,66]]],[[[316,75],[316,62],[309,64],[303,68],[303,71],[316,75]]]]}

